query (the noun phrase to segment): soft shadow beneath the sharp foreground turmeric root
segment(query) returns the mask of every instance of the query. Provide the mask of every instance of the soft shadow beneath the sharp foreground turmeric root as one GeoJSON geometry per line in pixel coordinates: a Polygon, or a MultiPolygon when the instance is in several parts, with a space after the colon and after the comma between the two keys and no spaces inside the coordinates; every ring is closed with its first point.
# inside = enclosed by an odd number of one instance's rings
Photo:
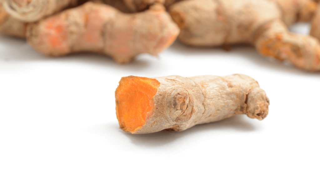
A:
{"type": "Polygon", "coordinates": [[[156,146],[165,145],[167,143],[171,143],[182,137],[187,137],[189,135],[193,135],[196,133],[200,133],[204,131],[226,130],[226,129],[241,131],[245,133],[245,132],[256,130],[256,127],[252,123],[250,123],[248,120],[245,120],[243,115],[237,115],[237,116],[233,116],[231,118],[224,119],[214,123],[196,125],[190,129],[187,129],[181,132],[169,132],[169,131],[163,130],[160,132],[144,134],[144,135],[132,135],[125,132],[123,133],[128,138],[130,138],[132,143],[135,145],[156,147],[156,146]]]}

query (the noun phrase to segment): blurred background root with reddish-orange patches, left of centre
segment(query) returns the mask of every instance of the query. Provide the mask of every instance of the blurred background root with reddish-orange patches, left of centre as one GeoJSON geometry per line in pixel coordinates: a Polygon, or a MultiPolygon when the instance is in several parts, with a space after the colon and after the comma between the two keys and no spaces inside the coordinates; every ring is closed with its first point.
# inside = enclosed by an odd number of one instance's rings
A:
{"type": "Polygon", "coordinates": [[[27,40],[50,56],[87,51],[127,63],[140,53],[157,55],[178,34],[178,26],[161,4],[145,12],[124,14],[111,6],[88,2],[29,25],[27,40]]]}

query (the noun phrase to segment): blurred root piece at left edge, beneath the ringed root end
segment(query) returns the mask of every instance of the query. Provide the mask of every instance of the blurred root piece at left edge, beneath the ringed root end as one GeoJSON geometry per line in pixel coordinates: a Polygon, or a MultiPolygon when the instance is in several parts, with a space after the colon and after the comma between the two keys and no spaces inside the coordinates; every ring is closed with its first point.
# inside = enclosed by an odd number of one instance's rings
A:
{"type": "Polygon", "coordinates": [[[0,34],[13,37],[26,37],[27,23],[12,18],[0,3],[0,34]]]}

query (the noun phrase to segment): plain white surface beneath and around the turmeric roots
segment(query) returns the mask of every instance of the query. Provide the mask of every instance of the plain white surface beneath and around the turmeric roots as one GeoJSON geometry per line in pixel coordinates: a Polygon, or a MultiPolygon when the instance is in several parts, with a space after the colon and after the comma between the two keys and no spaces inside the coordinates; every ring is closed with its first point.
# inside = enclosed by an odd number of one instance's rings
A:
{"type": "Polygon", "coordinates": [[[91,53],[49,58],[0,37],[0,179],[319,179],[319,89],[319,73],[249,46],[225,52],[175,42],[159,59],[119,65],[91,53]],[[118,129],[121,77],[235,73],[266,91],[265,120],[238,115],[147,135],[118,129]]]}

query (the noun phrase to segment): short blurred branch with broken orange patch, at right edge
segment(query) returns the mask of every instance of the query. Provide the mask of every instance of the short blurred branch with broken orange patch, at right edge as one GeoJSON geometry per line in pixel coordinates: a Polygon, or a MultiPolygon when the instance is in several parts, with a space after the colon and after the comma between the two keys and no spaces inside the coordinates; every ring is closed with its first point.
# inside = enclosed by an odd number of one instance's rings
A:
{"type": "Polygon", "coordinates": [[[263,33],[255,41],[255,46],[261,54],[280,61],[289,60],[303,70],[320,70],[320,44],[316,38],[288,33],[280,20],[266,24],[261,29],[263,33]]]}

